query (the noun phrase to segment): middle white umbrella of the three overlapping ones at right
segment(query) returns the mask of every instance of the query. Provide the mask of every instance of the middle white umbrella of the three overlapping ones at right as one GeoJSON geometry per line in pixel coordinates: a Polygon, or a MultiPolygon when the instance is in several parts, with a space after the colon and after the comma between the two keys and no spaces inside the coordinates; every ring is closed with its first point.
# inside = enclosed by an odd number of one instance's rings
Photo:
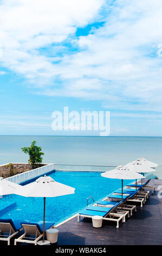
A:
{"type": "MultiPolygon", "coordinates": [[[[125,166],[128,167],[133,172],[137,172],[141,174],[155,172],[155,170],[149,167],[145,162],[142,162],[139,160],[133,161],[131,163],[127,163],[125,166]]],[[[141,179],[141,184],[142,184],[142,179],[141,179]]]]}

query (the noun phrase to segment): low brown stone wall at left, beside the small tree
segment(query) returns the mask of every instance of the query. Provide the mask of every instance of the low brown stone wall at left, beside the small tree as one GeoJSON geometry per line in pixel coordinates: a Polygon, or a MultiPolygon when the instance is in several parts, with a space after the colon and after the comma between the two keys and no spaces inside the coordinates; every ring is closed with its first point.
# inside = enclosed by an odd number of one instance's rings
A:
{"type": "MultiPolygon", "coordinates": [[[[35,168],[46,166],[46,163],[36,164],[35,168]]],[[[0,177],[8,178],[10,176],[32,170],[29,163],[7,163],[0,166],[0,177]]]]}

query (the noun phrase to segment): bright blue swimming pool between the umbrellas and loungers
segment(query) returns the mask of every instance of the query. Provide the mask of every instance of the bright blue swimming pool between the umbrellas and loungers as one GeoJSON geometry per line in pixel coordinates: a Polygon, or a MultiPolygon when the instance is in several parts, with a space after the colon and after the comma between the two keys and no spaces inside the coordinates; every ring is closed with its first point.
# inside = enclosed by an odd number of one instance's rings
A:
{"type": "MultiPolygon", "coordinates": [[[[75,194],[46,198],[46,221],[54,221],[58,224],[85,208],[88,197],[93,196],[96,201],[121,187],[121,180],[103,178],[100,174],[99,172],[61,171],[50,173],[49,176],[55,181],[75,187],[75,194]]],[[[131,181],[124,181],[124,185],[131,181]]],[[[93,201],[89,200],[90,203],[93,201]]],[[[0,218],[41,221],[43,220],[43,198],[22,197],[15,194],[3,196],[0,199],[0,218]]]]}

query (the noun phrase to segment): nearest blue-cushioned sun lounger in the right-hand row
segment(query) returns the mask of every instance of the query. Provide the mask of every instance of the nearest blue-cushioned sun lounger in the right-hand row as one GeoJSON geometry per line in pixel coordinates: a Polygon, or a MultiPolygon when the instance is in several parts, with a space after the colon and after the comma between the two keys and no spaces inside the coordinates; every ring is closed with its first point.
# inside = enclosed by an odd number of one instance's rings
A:
{"type": "Polygon", "coordinates": [[[128,215],[129,217],[129,211],[124,210],[116,210],[116,207],[120,205],[121,202],[115,203],[115,204],[109,204],[110,207],[102,207],[102,206],[96,206],[96,205],[90,205],[87,206],[86,209],[79,212],[77,220],[80,222],[81,216],[82,217],[88,217],[92,218],[93,216],[101,216],[103,217],[103,220],[106,221],[115,221],[116,228],[119,228],[119,222],[125,222],[125,217],[128,215]]]}

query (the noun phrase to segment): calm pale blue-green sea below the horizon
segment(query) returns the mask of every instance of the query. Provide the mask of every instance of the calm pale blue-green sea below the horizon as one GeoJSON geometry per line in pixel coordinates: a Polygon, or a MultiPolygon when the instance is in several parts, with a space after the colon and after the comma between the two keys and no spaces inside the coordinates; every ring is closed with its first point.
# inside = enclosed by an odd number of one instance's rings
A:
{"type": "Polygon", "coordinates": [[[162,166],[162,137],[0,136],[0,164],[28,162],[21,147],[33,140],[47,163],[118,166],[142,156],[162,166]]]}

